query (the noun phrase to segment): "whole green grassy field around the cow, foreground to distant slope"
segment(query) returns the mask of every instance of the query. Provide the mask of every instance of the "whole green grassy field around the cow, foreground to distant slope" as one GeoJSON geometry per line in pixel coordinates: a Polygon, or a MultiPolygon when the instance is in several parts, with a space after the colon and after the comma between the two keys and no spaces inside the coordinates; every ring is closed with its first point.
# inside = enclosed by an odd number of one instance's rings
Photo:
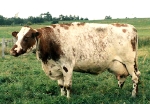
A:
{"type": "MultiPolygon", "coordinates": [[[[141,71],[139,93],[131,98],[132,81],[128,77],[122,89],[117,86],[113,74],[104,72],[98,76],[74,72],[71,99],[60,96],[57,82],[50,80],[37,61],[35,54],[18,58],[0,57],[0,104],[150,104],[150,19],[116,19],[85,22],[129,23],[139,34],[138,67],[141,71]]],[[[43,27],[32,25],[32,27],[43,27]]],[[[0,27],[0,38],[11,38],[12,31],[21,26],[0,27]]]]}

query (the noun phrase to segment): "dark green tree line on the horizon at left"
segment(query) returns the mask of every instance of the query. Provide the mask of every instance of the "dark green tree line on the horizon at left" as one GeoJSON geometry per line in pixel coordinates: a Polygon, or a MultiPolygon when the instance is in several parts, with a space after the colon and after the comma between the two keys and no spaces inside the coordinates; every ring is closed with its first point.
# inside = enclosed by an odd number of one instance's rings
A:
{"type": "Polygon", "coordinates": [[[0,15],[0,25],[16,25],[16,24],[34,24],[34,23],[44,23],[46,21],[51,21],[52,23],[58,23],[58,21],[72,21],[72,20],[88,20],[88,18],[82,18],[79,16],[64,16],[59,15],[59,17],[52,17],[52,15],[47,13],[41,13],[40,16],[33,17],[29,16],[28,18],[20,18],[20,17],[12,17],[12,18],[6,18],[0,15]]]}

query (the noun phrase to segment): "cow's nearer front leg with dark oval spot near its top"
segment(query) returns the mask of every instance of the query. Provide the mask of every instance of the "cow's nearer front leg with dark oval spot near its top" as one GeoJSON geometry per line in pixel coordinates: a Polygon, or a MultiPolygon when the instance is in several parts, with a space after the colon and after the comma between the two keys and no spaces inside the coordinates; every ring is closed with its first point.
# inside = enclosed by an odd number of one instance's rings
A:
{"type": "Polygon", "coordinates": [[[67,91],[67,98],[70,98],[70,90],[72,87],[72,73],[73,73],[73,68],[63,66],[64,89],[66,89],[67,91]]]}

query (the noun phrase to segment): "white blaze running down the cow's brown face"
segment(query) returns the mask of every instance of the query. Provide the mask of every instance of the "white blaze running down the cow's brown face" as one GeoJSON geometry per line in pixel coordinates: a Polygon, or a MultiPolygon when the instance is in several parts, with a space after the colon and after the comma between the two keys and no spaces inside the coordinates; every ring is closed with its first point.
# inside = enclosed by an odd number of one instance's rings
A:
{"type": "Polygon", "coordinates": [[[22,41],[23,37],[25,36],[25,34],[29,30],[30,30],[29,27],[22,27],[21,30],[20,30],[20,32],[17,34],[17,36],[18,36],[18,40],[16,42],[17,48],[14,49],[17,53],[22,49],[21,41],[22,41]]]}

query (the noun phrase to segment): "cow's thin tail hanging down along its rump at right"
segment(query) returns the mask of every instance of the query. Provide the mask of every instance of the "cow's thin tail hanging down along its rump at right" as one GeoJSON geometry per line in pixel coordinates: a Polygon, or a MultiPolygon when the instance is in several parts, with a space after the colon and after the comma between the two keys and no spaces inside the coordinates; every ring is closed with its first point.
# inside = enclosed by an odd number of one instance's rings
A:
{"type": "Polygon", "coordinates": [[[136,50],[135,50],[135,52],[136,52],[136,54],[135,54],[135,64],[134,64],[134,68],[135,68],[135,73],[136,73],[136,75],[137,76],[140,76],[141,75],[141,72],[138,70],[138,34],[137,34],[137,32],[136,32],[136,35],[135,35],[135,39],[136,39],[136,50]]]}

